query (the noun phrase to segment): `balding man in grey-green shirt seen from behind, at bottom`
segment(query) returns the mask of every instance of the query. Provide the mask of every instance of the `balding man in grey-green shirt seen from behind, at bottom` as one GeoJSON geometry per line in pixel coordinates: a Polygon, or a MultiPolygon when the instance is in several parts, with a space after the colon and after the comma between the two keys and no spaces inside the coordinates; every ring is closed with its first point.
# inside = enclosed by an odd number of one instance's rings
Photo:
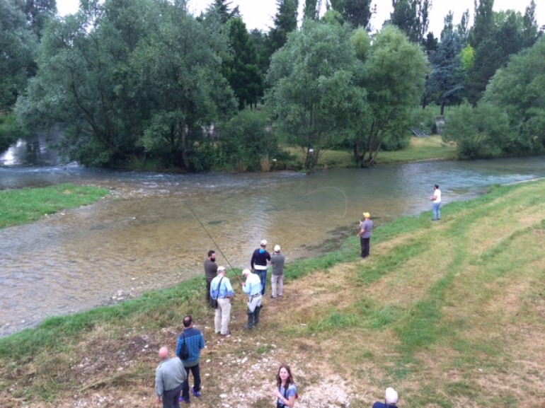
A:
{"type": "Polygon", "coordinates": [[[188,378],[183,363],[178,357],[171,358],[166,347],[159,349],[159,359],[161,363],[155,371],[157,404],[163,402],[163,408],[180,408],[178,399],[183,382],[188,378]]]}

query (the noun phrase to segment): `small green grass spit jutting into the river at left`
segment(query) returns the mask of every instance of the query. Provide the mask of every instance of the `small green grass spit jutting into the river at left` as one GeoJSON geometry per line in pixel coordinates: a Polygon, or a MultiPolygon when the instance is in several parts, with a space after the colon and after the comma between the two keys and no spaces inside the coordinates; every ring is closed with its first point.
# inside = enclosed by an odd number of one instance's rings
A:
{"type": "Polygon", "coordinates": [[[0,191],[0,228],[91,204],[106,194],[108,190],[103,188],[71,184],[0,191]]]}

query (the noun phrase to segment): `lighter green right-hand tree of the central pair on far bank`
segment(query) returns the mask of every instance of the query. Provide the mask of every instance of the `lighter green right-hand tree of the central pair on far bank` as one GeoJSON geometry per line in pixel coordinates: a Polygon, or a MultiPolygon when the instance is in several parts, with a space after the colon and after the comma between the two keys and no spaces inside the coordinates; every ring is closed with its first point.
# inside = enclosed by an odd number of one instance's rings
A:
{"type": "Polygon", "coordinates": [[[395,145],[406,138],[411,108],[418,105],[424,91],[428,60],[401,30],[387,25],[372,41],[364,73],[362,87],[367,91],[371,120],[357,132],[354,154],[367,167],[383,144],[395,145]]]}

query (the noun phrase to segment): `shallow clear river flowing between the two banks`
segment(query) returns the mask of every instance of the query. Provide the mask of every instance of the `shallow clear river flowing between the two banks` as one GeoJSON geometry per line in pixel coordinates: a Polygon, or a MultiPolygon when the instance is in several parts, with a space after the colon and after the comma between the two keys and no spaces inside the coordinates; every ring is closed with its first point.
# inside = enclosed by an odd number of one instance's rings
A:
{"type": "Polygon", "coordinates": [[[544,158],[381,165],[312,175],[166,175],[54,165],[36,151],[39,144],[30,150],[14,146],[0,156],[0,189],[73,182],[106,187],[112,194],[0,230],[0,336],[47,316],[116,303],[203,274],[210,249],[217,251],[219,264],[248,267],[251,252],[266,238],[270,247],[282,246],[289,262],[338,247],[357,233],[362,211],[380,226],[430,210],[435,183],[447,204],[476,197],[490,185],[545,175],[544,158]],[[36,161],[23,165],[29,162],[21,155],[29,151],[36,161]]]}

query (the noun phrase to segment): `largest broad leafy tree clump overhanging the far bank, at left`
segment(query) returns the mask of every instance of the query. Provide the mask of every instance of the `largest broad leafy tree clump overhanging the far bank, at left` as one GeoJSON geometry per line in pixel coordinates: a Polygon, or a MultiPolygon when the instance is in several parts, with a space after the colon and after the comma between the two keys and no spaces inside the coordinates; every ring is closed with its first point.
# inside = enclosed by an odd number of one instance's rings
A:
{"type": "Polygon", "coordinates": [[[197,168],[201,122],[234,107],[219,30],[195,21],[181,0],[81,2],[45,30],[18,117],[27,127],[67,124],[64,153],[84,165],[148,155],[197,168]]]}

